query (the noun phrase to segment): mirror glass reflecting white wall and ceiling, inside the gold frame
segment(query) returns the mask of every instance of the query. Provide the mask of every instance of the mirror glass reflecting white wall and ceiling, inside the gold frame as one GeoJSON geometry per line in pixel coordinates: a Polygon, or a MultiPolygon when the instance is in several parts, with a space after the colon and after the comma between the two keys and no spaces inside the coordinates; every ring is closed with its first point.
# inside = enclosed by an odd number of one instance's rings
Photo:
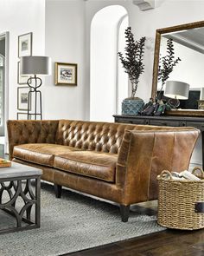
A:
{"type": "MultiPolygon", "coordinates": [[[[169,81],[187,82],[190,85],[188,101],[182,101],[180,108],[198,108],[196,100],[200,99],[201,88],[204,88],[204,28],[183,30],[161,36],[160,55],[166,54],[168,38],[173,39],[175,56],[182,60],[169,75],[169,81]],[[193,102],[194,101],[194,104],[193,102]]],[[[157,83],[157,90],[161,82],[157,83]]]]}

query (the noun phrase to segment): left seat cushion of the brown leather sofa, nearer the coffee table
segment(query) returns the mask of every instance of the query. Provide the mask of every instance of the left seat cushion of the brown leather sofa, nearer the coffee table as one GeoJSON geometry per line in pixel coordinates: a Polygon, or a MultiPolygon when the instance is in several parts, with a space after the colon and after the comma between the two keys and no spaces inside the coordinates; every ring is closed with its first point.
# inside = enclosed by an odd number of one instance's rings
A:
{"type": "Polygon", "coordinates": [[[48,143],[22,144],[14,147],[13,157],[43,166],[53,167],[54,155],[79,149],[48,143]]]}

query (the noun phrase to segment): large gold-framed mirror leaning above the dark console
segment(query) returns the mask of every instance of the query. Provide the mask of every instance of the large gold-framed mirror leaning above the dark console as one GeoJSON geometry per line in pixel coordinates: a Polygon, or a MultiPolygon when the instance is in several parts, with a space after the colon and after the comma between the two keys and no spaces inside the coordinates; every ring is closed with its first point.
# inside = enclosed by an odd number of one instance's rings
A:
{"type": "Polygon", "coordinates": [[[163,55],[169,38],[174,43],[175,58],[180,57],[182,61],[174,67],[168,80],[190,84],[189,95],[191,96],[185,103],[188,108],[171,110],[167,114],[204,116],[204,108],[198,109],[201,93],[204,100],[204,21],[156,30],[151,97],[155,99],[157,91],[161,89],[158,82],[159,58],[163,55]],[[189,106],[194,107],[189,108],[189,106]]]}

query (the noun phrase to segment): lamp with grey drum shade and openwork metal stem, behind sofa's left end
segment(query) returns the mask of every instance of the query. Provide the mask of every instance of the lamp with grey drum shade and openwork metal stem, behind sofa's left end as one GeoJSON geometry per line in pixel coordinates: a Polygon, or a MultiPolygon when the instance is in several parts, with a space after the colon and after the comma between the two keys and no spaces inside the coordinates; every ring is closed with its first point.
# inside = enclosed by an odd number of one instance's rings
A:
{"type": "Polygon", "coordinates": [[[28,120],[30,115],[35,116],[35,120],[37,119],[37,115],[41,114],[41,91],[39,88],[41,87],[41,78],[37,77],[37,75],[51,75],[51,59],[48,56],[22,56],[21,57],[21,75],[31,75],[27,81],[29,85],[29,96],[28,96],[28,120]],[[34,76],[32,76],[34,75],[34,76]],[[34,82],[32,82],[34,80],[34,82]],[[29,106],[31,102],[31,95],[35,95],[35,112],[29,113],[29,106]],[[37,110],[37,103],[39,99],[39,111],[37,110]]]}

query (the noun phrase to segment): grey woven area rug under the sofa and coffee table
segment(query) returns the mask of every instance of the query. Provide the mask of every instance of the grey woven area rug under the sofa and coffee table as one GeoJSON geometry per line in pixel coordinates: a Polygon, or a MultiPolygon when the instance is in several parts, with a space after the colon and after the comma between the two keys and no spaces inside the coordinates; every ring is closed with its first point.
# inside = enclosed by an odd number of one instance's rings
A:
{"type": "MultiPolygon", "coordinates": [[[[1,234],[0,255],[55,256],[164,230],[152,214],[136,213],[133,207],[123,223],[118,207],[68,190],[56,199],[54,187],[42,182],[41,228],[1,234]]],[[[12,223],[12,218],[1,211],[1,224],[12,223]]]]}

